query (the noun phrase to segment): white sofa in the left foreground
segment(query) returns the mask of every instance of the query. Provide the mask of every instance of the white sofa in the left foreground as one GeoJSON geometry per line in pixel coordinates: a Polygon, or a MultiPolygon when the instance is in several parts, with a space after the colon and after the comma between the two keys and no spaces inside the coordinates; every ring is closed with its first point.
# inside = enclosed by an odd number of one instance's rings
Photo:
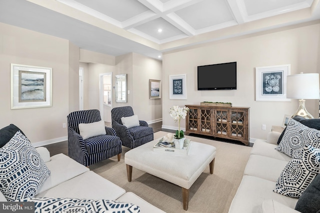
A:
{"type": "MultiPolygon", "coordinates": [[[[64,154],[50,157],[46,148],[38,147],[36,150],[50,170],[50,176],[41,185],[35,198],[114,200],[134,204],[140,208],[140,213],[164,213],[135,194],[126,193],[124,189],[64,154]]],[[[5,201],[0,192],[0,202],[5,201]]]]}

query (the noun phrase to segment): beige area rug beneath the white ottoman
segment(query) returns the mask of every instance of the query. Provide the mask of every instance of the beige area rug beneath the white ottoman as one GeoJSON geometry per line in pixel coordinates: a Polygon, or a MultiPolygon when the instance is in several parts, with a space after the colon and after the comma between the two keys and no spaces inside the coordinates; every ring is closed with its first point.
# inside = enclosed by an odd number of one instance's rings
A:
{"type": "MultiPolygon", "coordinates": [[[[156,132],[154,139],[166,135],[156,132]]],[[[186,136],[191,141],[216,147],[213,175],[209,166],[189,190],[188,213],[227,213],[231,201],[241,182],[251,147],[186,136]]],[[[185,213],[182,206],[181,187],[132,169],[132,182],[127,181],[124,154],[129,149],[122,147],[120,162],[112,157],[90,166],[90,170],[120,186],[126,192],[133,192],[153,206],[166,213],[185,213]]]]}

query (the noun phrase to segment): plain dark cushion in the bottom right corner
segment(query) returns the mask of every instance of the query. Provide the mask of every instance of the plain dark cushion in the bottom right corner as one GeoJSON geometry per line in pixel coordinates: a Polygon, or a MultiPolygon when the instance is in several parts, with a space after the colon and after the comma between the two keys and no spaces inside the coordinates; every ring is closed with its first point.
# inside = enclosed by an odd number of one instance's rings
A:
{"type": "Polygon", "coordinates": [[[320,175],[304,190],[294,209],[301,213],[320,212],[320,175]]]}

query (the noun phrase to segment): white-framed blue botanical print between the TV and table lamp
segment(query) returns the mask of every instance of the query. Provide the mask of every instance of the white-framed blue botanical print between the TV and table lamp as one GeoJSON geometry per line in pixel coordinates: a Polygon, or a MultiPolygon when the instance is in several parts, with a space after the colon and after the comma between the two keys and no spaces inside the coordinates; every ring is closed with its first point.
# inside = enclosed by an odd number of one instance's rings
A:
{"type": "Polygon", "coordinates": [[[290,64],[255,67],[256,101],[290,101],[286,98],[286,76],[290,64]]]}

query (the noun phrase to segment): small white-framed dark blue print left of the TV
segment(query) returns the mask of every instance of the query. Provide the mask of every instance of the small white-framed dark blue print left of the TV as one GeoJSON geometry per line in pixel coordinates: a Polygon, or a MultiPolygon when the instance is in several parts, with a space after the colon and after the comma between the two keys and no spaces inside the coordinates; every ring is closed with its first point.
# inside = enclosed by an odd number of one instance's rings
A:
{"type": "Polygon", "coordinates": [[[169,75],[169,99],[186,99],[186,74],[169,75]]]}

